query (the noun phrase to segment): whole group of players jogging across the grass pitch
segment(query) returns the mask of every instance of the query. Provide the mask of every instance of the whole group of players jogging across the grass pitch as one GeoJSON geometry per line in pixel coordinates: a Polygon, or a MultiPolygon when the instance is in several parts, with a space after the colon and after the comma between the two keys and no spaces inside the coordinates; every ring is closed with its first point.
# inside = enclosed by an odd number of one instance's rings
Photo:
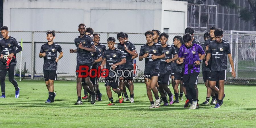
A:
{"type": "MultiPolygon", "coordinates": [[[[139,61],[145,61],[144,78],[146,92],[150,101],[149,108],[158,108],[163,102],[163,106],[179,103],[183,100],[183,92],[186,97],[184,108],[190,105],[189,109],[199,108],[197,82],[202,64],[203,80],[207,87],[207,97],[203,104],[215,105],[214,108],[220,108],[223,104],[224,81],[226,80],[227,56],[232,68],[232,76],[235,77],[234,64],[230,51],[230,44],[222,39],[223,30],[211,27],[210,32],[205,33],[205,43],[200,42],[193,37],[193,28],[186,28],[183,37],[175,36],[173,44],[168,45],[168,34],[160,34],[159,30],[145,32],[147,43],[141,46],[139,55],[133,43],[128,41],[128,34],[119,32],[116,40],[109,37],[107,40],[108,49],[100,43],[100,34],[93,33],[92,28],[87,28],[85,24],[79,24],[78,31],[80,36],[75,38],[75,49],[70,49],[70,53],[77,53],[77,102],[75,105],[83,104],[82,99],[88,99],[88,102],[95,104],[96,101],[102,101],[98,79],[99,75],[95,72],[108,71],[104,77],[106,92],[110,103],[122,103],[130,101],[134,103],[134,85],[133,85],[133,60],[139,56],[139,61]],[[92,71],[89,75],[81,70],[92,71]],[[122,70],[123,72],[118,72],[122,70]],[[115,77],[118,75],[119,77],[115,77]],[[86,77],[81,77],[86,76],[86,77]],[[94,76],[94,77],[93,77],[94,76]],[[95,77],[96,76],[96,77],[95,77]],[[168,87],[172,83],[174,95],[168,87]],[[180,87],[178,87],[180,85],[180,87]],[[117,93],[118,100],[114,102],[112,90],[117,93]],[[81,97],[82,88],[84,97],[81,97]],[[130,92],[130,98],[126,89],[130,92]],[[152,97],[152,92],[155,102],[152,97]],[[180,94],[179,94],[180,90],[180,94]],[[160,93],[160,97],[158,95],[160,93]],[[210,101],[210,96],[212,100],[210,101]],[[168,103],[169,97],[169,103],[168,103]],[[162,101],[161,101],[162,100],[162,101]]],[[[0,40],[1,48],[1,91],[5,98],[5,75],[9,71],[9,81],[15,87],[15,97],[19,97],[19,87],[14,79],[14,69],[16,66],[16,53],[22,50],[17,40],[8,34],[6,26],[1,27],[3,39],[0,40]],[[17,47],[17,49],[16,49],[17,47]]],[[[43,44],[39,57],[44,58],[44,80],[48,89],[48,99],[46,103],[54,102],[56,93],[54,92],[54,80],[57,80],[57,63],[63,57],[63,51],[59,44],[53,42],[55,38],[54,31],[46,33],[48,43],[43,44]],[[59,56],[57,57],[57,52],[59,56]]],[[[87,72],[88,73],[88,72],[87,72]]]]}

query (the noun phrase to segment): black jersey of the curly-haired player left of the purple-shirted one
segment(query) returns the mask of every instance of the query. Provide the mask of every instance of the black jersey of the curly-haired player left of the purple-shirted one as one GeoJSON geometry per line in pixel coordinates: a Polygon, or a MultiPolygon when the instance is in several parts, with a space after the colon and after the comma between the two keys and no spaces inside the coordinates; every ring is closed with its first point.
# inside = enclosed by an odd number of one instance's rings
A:
{"type": "Polygon", "coordinates": [[[148,57],[144,58],[145,59],[145,69],[144,69],[144,74],[152,74],[154,71],[153,69],[158,69],[160,66],[160,59],[152,59],[152,54],[153,55],[162,55],[164,54],[164,49],[160,44],[154,43],[152,46],[148,46],[148,44],[144,44],[141,46],[140,50],[140,56],[143,56],[145,53],[148,53],[148,57]]]}

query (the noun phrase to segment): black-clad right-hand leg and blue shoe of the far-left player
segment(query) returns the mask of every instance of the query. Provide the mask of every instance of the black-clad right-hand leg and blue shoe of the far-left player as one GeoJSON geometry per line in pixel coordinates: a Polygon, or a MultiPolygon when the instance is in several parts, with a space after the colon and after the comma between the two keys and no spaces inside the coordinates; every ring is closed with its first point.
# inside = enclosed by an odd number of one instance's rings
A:
{"type": "Polygon", "coordinates": [[[20,96],[20,88],[18,87],[17,81],[14,79],[14,73],[15,73],[15,67],[16,64],[9,65],[9,81],[13,84],[15,88],[15,98],[18,98],[20,96]]]}

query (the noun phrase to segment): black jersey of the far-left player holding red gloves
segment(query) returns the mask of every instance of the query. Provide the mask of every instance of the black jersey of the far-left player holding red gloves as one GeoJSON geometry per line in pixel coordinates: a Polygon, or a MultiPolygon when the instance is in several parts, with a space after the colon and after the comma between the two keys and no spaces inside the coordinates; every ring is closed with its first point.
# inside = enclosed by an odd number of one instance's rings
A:
{"type": "MultiPolygon", "coordinates": [[[[8,55],[8,52],[9,54],[14,53],[14,51],[16,51],[16,47],[21,47],[16,38],[10,36],[7,40],[4,38],[0,39],[0,48],[3,55],[8,55]]],[[[16,54],[14,54],[14,56],[15,59],[11,61],[10,65],[17,63],[16,54]]]]}

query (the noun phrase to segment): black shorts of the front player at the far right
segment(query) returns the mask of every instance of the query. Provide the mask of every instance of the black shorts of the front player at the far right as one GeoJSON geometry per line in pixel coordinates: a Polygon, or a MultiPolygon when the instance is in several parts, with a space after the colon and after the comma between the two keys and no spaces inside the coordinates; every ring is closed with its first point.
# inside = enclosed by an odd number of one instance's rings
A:
{"type": "Polygon", "coordinates": [[[208,80],[210,81],[227,80],[227,70],[210,71],[208,80]]]}

